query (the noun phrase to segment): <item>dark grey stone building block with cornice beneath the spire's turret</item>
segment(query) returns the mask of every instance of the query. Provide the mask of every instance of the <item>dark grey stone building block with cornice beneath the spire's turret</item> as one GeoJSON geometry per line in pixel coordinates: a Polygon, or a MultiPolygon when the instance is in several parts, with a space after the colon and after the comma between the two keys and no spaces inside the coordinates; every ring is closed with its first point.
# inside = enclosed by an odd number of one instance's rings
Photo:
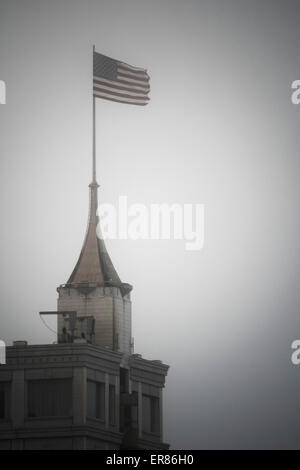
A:
{"type": "Polygon", "coordinates": [[[16,344],[0,367],[0,450],[165,449],[167,366],[84,342],[16,344]]]}

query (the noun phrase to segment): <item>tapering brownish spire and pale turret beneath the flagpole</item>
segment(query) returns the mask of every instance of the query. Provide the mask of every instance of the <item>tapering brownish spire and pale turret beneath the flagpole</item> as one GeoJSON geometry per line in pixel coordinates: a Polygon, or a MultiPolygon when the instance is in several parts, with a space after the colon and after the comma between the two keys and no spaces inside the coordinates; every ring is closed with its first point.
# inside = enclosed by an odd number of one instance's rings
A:
{"type": "MultiPolygon", "coordinates": [[[[95,322],[92,342],[98,346],[131,354],[132,286],[123,283],[107,253],[104,240],[97,236],[98,183],[90,187],[88,226],[78,261],[66,284],[57,288],[60,312],[76,311],[78,317],[90,317],[95,322]]],[[[77,335],[81,326],[76,324],[77,335]]],[[[58,318],[58,341],[65,328],[58,318]]]]}

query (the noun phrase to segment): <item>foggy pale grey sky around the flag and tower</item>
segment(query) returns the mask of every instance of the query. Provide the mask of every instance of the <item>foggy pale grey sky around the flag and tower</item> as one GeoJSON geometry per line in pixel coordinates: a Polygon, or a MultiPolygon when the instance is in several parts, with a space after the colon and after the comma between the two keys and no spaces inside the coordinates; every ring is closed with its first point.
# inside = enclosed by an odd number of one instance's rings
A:
{"type": "Polygon", "coordinates": [[[135,352],[171,366],[172,448],[299,447],[299,15],[296,0],[0,0],[0,338],[55,339],[38,312],[85,234],[95,44],[151,77],[146,108],[97,102],[100,202],[205,204],[200,252],[107,242],[134,286],[135,352]]]}

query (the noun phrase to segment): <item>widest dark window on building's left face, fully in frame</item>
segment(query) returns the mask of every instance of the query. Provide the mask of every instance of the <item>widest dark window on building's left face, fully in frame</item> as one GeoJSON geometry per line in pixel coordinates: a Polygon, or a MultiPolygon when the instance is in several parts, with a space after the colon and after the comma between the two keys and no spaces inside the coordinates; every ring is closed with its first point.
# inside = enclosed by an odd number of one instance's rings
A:
{"type": "Polygon", "coordinates": [[[30,380],[28,416],[71,416],[72,382],[70,379],[30,380]]]}

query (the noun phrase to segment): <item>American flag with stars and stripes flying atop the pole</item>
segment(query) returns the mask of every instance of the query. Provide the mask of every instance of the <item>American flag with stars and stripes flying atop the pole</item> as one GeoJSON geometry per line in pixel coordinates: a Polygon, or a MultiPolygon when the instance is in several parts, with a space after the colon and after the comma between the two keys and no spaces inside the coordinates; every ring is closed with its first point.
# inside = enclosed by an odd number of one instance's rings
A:
{"type": "Polygon", "coordinates": [[[118,103],[148,104],[150,77],[145,69],[94,52],[93,94],[118,103]]]}

